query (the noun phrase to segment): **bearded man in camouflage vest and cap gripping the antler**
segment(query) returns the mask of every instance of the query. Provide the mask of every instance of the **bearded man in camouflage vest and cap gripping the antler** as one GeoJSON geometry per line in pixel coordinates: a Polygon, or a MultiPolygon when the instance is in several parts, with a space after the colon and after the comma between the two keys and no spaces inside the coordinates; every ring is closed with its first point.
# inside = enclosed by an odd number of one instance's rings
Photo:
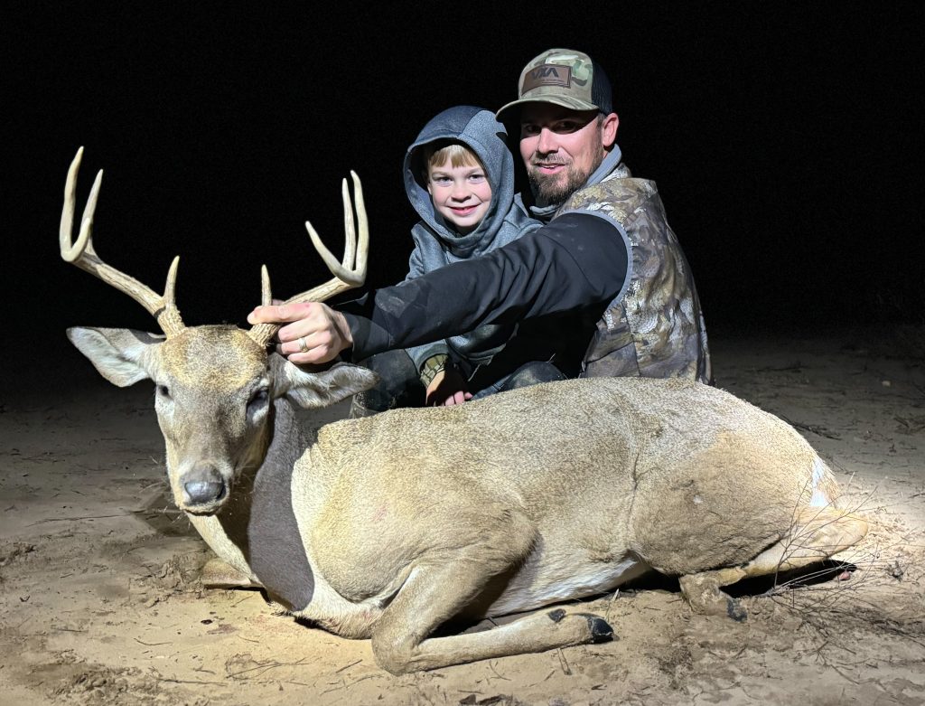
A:
{"type": "Polygon", "coordinates": [[[516,121],[533,204],[548,224],[482,257],[330,309],[257,307],[251,323],[288,324],[277,350],[323,363],[519,325],[522,343],[574,376],[711,382],[694,279],[655,183],[633,179],[616,144],[611,84],[589,56],[550,49],[521,73],[516,121]],[[297,342],[303,339],[304,345],[297,342]],[[549,357],[546,357],[549,356],[549,357]]]}

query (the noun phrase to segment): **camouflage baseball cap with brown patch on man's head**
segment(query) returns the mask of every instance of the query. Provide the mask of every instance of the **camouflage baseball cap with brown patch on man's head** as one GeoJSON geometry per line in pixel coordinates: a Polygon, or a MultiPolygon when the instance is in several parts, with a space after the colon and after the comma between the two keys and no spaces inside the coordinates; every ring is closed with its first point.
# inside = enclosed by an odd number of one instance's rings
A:
{"type": "Polygon", "coordinates": [[[495,117],[512,118],[512,108],[524,103],[552,103],[573,110],[613,112],[611,81],[604,69],[584,52],[549,49],[524,67],[517,84],[519,97],[495,117]]]}

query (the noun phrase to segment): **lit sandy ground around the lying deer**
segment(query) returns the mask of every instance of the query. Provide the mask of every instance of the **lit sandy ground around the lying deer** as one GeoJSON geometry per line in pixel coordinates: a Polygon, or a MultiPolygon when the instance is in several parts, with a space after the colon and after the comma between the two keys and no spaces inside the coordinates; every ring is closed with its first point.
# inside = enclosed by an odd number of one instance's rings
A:
{"type": "Polygon", "coordinates": [[[587,606],[611,643],[402,677],[257,590],[204,590],[150,384],[118,390],[75,359],[0,400],[0,703],[925,703],[916,341],[712,341],[718,384],[794,424],[869,517],[849,580],[740,587],[743,623],[648,581],[587,606]]]}

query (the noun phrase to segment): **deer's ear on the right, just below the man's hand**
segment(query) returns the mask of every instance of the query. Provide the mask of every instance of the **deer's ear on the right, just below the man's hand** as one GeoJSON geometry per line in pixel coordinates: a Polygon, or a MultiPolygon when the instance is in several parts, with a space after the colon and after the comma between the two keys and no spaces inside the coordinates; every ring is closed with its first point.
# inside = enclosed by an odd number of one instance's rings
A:
{"type": "Polygon", "coordinates": [[[270,355],[273,366],[274,390],[286,395],[302,409],[327,407],[351,395],[369,390],[379,377],[360,365],[335,363],[324,365],[293,365],[276,353],[270,355]]]}

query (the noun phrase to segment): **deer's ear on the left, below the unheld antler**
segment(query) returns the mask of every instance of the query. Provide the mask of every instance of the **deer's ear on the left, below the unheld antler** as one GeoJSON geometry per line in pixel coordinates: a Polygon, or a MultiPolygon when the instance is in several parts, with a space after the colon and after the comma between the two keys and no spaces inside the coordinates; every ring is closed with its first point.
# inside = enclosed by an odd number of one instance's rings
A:
{"type": "Polygon", "coordinates": [[[120,388],[152,377],[154,353],[163,336],[131,328],[68,328],[68,339],[93,367],[120,388]]]}

